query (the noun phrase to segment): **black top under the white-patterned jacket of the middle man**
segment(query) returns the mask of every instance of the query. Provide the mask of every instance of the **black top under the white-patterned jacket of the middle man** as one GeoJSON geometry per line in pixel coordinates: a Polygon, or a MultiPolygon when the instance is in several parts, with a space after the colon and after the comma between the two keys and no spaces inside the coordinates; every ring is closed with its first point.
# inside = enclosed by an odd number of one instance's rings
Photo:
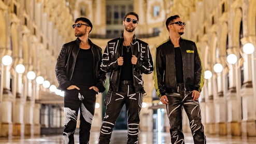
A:
{"type": "Polygon", "coordinates": [[[131,46],[123,46],[123,65],[121,66],[120,80],[133,80],[133,64],[131,46]]]}

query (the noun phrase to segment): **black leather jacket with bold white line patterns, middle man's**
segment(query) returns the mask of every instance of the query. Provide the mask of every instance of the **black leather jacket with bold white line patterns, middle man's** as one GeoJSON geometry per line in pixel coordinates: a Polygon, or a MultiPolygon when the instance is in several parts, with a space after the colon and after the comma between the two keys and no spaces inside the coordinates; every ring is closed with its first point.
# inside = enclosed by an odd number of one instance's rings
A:
{"type": "MultiPolygon", "coordinates": [[[[112,91],[118,92],[121,66],[118,66],[117,59],[123,55],[123,35],[120,38],[108,41],[106,49],[102,57],[102,70],[110,73],[110,87],[112,91]]],[[[138,60],[137,64],[133,65],[133,85],[136,93],[145,94],[143,87],[143,74],[150,74],[153,71],[153,61],[149,51],[148,44],[142,40],[136,39],[133,36],[133,44],[131,44],[132,54],[138,60]]]]}

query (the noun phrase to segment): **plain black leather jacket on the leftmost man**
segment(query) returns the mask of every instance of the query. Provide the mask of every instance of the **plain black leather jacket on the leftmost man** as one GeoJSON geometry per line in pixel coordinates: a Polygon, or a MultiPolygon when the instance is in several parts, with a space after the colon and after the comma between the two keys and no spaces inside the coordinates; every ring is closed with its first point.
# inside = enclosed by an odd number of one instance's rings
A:
{"type": "MultiPolygon", "coordinates": [[[[55,66],[55,74],[59,82],[58,89],[66,90],[70,85],[75,85],[75,83],[70,80],[73,76],[77,54],[80,49],[80,42],[81,40],[77,38],[76,40],[70,41],[62,46],[55,66]]],[[[106,73],[100,68],[102,62],[102,49],[97,45],[94,45],[90,39],[88,39],[88,42],[92,47],[94,57],[94,84],[95,87],[98,88],[99,92],[104,92],[106,73]]]]}

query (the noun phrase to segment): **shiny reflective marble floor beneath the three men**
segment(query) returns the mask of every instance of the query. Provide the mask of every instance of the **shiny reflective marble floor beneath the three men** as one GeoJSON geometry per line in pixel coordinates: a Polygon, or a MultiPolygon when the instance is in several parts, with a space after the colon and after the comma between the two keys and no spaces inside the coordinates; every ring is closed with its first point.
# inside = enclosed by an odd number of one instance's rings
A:
{"type": "MultiPolygon", "coordinates": [[[[91,138],[89,144],[95,144],[98,141],[98,132],[91,132],[91,138]]],[[[191,134],[186,133],[185,143],[193,143],[193,138],[191,134]]],[[[208,144],[256,144],[256,137],[232,137],[232,136],[217,136],[217,135],[207,135],[206,139],[208,144]]],[[[34,137],[11,137],[3,138],[0,137],[0,144],[55,144],[62,143],[62,136],[34,136],[34,137]]],[[[78,135],[75,135],[75,143],[78,142],[78,135]]],[[[113,131],[111,137],[112,144],[126,143],[126,131],[113,131]]],[[[170,143],[170,136],[168,133],[154,133],[154,132],[140,132],[139,134],[139,144],[163,144],[170,143]]]]}

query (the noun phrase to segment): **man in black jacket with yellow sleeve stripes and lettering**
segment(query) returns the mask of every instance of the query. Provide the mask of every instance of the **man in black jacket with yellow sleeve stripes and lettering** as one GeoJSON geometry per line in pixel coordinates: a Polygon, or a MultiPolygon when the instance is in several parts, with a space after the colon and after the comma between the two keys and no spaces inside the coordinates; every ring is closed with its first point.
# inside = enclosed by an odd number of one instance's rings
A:
{"type": "Polygon", "coordinates": [[[186,23],[178,15],[166,20],[169,38],[155,49],[155,90],[166,105],[172,143],[184,143],[182,108],[187,113],[194,143],[206,143],[198,98],[204,68],[195,42],[181,38],[186,23]]]}

